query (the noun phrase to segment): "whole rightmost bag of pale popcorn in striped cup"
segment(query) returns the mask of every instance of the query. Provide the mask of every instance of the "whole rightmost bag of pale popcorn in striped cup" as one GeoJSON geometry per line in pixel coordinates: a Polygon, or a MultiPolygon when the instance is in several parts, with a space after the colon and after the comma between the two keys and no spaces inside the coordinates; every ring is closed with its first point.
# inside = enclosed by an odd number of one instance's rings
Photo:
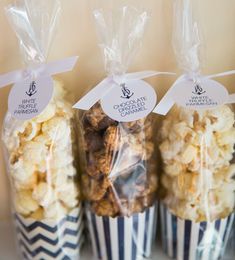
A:
{"type": "Polygon", "coordinates": [[[198,24],[192,1],[175,3],[174,47],[184,74],[154,110],[164,115],[162,241],[179,260],[217,260],[224,254],[234,220],[234,95],[200,73],[198,24]],[[170,110],[170,112],[168,112],[170,110]]]}

